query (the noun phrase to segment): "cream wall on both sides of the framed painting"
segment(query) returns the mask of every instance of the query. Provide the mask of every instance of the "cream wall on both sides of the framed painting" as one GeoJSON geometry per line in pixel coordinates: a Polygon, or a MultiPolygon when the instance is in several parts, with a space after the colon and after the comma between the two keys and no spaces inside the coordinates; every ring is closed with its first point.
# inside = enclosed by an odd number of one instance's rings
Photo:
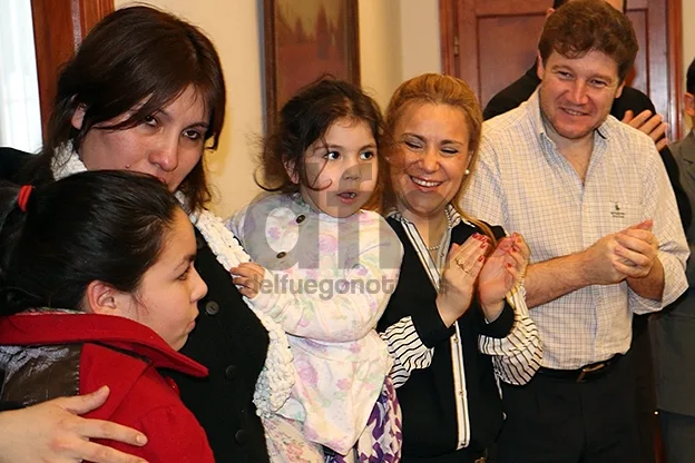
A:
{"type": "MultiPolygon", "coordinates": [[[[131,1],[115,0],[115,6],[120,8],[131,1]]],[[[359,1],[362,85],[385,107],[405,78],[441,70],[438,1],[359,1]]],[[[263,1],[149,0],[149,3],[198,26],[219,52],[227,83],[227,114],[219,148],[208,154],[207,159],[215,193],[213,209],[226,217],[260,191],[253,171],[257,140],[263,134],[263,1]]]]}

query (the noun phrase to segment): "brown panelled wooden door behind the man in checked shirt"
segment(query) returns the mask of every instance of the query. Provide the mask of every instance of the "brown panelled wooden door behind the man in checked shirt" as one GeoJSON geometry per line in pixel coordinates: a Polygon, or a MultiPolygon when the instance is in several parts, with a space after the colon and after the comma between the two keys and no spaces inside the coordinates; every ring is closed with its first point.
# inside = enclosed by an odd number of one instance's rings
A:
{"type": "MultiPolygon", "coordinates": [[[[444,72],[466,80],[484,107],[532,65],[551,0],[440,0],[444,72]]],[[[629,83],[684,134],[681,114],[681,0],[627,0],[639,53],[629,83]],[[647,33],[648,32],[648,33],[647,33]]]]}

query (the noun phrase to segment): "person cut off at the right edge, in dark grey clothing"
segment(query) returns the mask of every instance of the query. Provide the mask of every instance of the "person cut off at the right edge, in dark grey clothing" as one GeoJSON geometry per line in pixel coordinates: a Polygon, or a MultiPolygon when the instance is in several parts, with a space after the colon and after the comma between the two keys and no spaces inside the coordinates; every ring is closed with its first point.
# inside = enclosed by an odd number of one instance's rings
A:
{"type": "MultiPolygon", "coordinates": [[[[695,60],[686,76],[685,112],[695,120],[695,60]]],[[[692,205],[695,205],[695,134],[669,146],[692,205]]],[[[684,297],[650,319],[657,406],[668,463],[695,461],[695,224],[686,228],[691,248],[684,297]]]]}

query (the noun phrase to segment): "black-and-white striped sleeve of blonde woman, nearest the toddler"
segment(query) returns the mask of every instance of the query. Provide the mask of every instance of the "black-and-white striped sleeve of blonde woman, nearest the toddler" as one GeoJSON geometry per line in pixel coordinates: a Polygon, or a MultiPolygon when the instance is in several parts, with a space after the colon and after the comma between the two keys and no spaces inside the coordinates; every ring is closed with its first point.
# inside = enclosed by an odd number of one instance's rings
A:
{"type": "Polygon", "coordinates": [[[405,384],[413,370],[427,368],[432,363],[434,348],[424,345],[412,317],[401,318],[380,334],[393,357],[390,376],[395,387],[405,384]]]}

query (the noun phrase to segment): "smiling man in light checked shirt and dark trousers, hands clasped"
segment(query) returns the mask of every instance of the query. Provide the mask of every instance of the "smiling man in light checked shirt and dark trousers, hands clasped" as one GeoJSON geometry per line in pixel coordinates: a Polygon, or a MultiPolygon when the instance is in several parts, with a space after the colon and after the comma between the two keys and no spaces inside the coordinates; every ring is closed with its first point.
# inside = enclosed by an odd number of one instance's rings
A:
{"type": "Polygon", "coordinates": [[[633,463],[633,314],[687,287],[685,240],[654,141],[609,116],[637,52],[629,20],[577,0],[546,21],[542,80],[483,125],[463,209],[521,233],[527,303],[544,342],[525,386],[502,384],[500,463],[633,463]]]}

